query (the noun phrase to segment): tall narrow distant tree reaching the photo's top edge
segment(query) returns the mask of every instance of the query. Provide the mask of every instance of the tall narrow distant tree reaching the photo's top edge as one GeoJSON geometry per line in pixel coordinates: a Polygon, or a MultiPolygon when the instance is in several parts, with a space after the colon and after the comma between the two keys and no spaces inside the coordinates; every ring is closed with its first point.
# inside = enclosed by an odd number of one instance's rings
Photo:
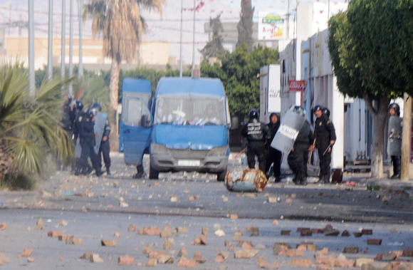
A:
{"type": "Polygon", "coordinates": [[[245,43],[248,51],[251,52],[253,48],[253,11],[255,7],[252,8],[251,0],[241,0],[241,15],[239,23],[236,26],[238,29],[238,41],[236,42],[236,47],[241,46],[242,43],[245,43]]]}

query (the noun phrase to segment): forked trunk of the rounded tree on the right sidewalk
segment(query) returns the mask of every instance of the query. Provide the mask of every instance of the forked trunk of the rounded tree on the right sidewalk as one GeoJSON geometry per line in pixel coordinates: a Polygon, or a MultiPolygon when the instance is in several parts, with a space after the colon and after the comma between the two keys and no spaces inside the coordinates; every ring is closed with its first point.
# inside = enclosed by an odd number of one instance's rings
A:
{"type": "Polygon", "coordinates": [[[386,119],[387,119],[387,107],[389,106],[389,98],[380,98],[378,101],[378,108],[374,108],[372,105],[372,99],[370,96],[365,95],[365,103],[369,112],[372,114],[373,118],[373,129],[372,129],[372,152],[370,159],[372,161],[371,172],[372,178],[382,178],[383,174],[383,150],[385,142],[385,130],[386,119]]]}

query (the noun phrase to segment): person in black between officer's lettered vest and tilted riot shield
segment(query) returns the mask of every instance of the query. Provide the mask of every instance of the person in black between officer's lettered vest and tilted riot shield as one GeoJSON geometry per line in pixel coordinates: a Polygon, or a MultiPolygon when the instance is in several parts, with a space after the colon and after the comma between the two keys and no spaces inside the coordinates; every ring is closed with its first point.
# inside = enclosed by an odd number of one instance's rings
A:
{"type": "Polygon", "coordinates": [[[271,113],[270,123],[267,124],[267,127],[271,132],[271,137],[266,144],[266,147],[268,148],[268,154],[266,157],[266,176],[267,178],[270,177],[268,170],[270,170],[271,165],[273,165],[273,172],[274,177],[276,178],[276,182],[281,182],[281,157],[283,155],[281,151],[276,150],[275,148],[270,146],[274,136],[278,131],[278,128],[280,128],[280,118],[277,113],[271,113]]]}

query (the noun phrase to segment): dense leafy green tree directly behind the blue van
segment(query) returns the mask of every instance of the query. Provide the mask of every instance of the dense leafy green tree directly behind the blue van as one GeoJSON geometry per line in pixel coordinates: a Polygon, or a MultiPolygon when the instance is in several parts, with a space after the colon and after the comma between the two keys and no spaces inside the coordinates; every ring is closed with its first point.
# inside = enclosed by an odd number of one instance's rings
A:
{"type": "Polygon", "coordinates": [[[278,63],[278,51],[258,46],[249,53],[243,44],[233,53],[226,53],[220,60],[221,63],[214,65],[204,61],[201,76],[219,78],[228,96],[231,115],[244,119],[252,108],[259,110],[260,81],[257,74],[262,66],[278,63]]]}

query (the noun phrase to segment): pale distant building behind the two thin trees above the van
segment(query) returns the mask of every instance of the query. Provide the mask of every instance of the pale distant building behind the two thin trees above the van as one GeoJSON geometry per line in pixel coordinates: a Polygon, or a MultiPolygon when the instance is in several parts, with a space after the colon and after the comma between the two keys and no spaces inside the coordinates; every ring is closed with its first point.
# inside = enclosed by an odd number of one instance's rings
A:
{"type": "MultiPolygon", "coordinates": [[[[224,28],[224,31],[221,31],[221,37],[222,37],[222,45],[224,46],[224,49],[226,51],[229,51],[232,53],[235,51],[235,46],[236,42],[238,41],[238,29],[236,26],[238,23],[221,23],[222,27],[224,28]]],[[[208,34],[208,40],[211,41],[212,39],[212,28],[209,26],[209,22],[204,24],[204,32],[208,34]]],[[[260,44],[263,47],[267,48],[273,48],[277,49],[278,48],[278,41],[258,41],[258,24],[253,23],[253,33],[252,33],[252,38],[253,38],[253,45],[257,46],[257,44],[260,44]]]]}

